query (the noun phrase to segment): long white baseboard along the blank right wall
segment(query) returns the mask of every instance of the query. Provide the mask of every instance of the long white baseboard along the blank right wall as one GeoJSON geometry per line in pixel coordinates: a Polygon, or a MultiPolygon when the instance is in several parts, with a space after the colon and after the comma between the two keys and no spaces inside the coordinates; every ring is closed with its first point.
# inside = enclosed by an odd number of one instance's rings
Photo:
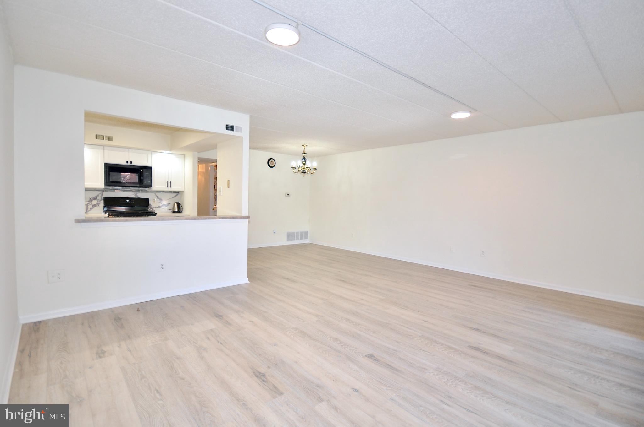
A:
{"type": "Polygon", "coordinates": [[[448,265],[445,265],[445,264],[437,264],[435,262],[428,262],[426,260],[421,260],[421,259],[397,257],[396,255],[390,255],[390,254],[386,254],[386,253],[379,253],[379,252],[372,252],[372,251],[361,251],[361,250],[357,250],[355,248],[349,248],[348,246],[328,244],[328,243],[323,243],[323,242],[318,242],[318,241],[310,241],[310,243],[319,244],[321,246],[328,246],[329,248],[336,248],[336,249],[342,249],[342,250],[346,250],[346,251],[366,253],[367,255],[375,255],[376,257],[384,257],[384,258],[396,259],[396,260],[401,260],[401,261],[406,261],[406,262],[413,262],[414,264],[422,264],[423,266],[444,268],[444,269],[451,270],[451,271],[459,271],[460,273],[468,273],[468,274],[471,274],[471,275],[477,275],[477,276],[482,276],[482,277],[496,278],[498,280],[505,280],[506,282],[515,282],[515,283],[522,284],[522,285],[543,287],[545,289],[552,289],[553,291],[561,291],[561,292],[567,292],[567,293],[572,293],[572,294],[576,294],[576,295],[583,295],[583,296],[592,296],[593,298],[600,298],[601,300],[609,300],[609,301],[614,301],[614,302],[623,302],[624,304],[640,305],[640,306],[644,307],[644,300],[641,300],[641,299],[638,299],[638,298],[630,298],[629,296],[614,295],[614,294],[597,292],[597,291],[587,291],[586,289],[579,289],[578,287],[567,287],[567,286],[553,285],[553,284],[544,283],[544,282],[536,282],[535,280],[527,280],[527,279],[524,279],[524,278],[497,275],[497,274],[494,274],[494,273],[488,273],[487,271],[478,271],[478,270],[473,270],[473,269],[464,269],[464,268],[460,268],[460,267],[456,267],[456,266],[448,266],[448,265]]]}

